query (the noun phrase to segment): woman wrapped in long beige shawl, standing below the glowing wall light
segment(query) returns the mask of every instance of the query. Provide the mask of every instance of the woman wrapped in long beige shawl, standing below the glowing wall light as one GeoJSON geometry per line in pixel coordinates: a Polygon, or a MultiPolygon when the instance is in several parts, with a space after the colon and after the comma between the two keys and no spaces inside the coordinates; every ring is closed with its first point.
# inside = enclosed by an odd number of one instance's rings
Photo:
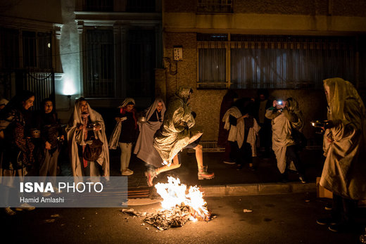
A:
{"type": "Polygon", "coordinates": [[[85,98],[75,102],[66,127],[73,176],[109,176],[109,150],[103,117],[85,98]]]}

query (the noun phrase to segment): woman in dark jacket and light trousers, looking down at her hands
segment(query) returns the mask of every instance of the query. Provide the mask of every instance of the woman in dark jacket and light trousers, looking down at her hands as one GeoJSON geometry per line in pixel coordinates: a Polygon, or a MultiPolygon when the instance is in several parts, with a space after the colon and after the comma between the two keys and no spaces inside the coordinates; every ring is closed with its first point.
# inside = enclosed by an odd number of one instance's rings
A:
{"type": "Polygon", "coordinates": [[[118,107],[118,114],[115,115],[115,129],[112,132],[109,148],[115,149],[117,146],[121,149],[120,172],[122,175],[131,175],[134,172],[128,168],[130,165],[132,143],[137,138],[137,114],[134,108],[133,98],[126,98],[122,105],[118,107]]]}

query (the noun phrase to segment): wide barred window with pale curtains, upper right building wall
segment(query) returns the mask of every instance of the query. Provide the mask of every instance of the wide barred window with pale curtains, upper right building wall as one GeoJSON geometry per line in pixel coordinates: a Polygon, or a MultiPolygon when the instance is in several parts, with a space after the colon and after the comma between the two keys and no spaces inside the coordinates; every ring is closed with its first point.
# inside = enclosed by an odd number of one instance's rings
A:
{"type": "Polygon", "coordinates": [[[198,35],[198,87],[321,88],[329,77],[355,82],[352,37],[232,35],[231,39],[213,41],[207,34],[198,35]]]}

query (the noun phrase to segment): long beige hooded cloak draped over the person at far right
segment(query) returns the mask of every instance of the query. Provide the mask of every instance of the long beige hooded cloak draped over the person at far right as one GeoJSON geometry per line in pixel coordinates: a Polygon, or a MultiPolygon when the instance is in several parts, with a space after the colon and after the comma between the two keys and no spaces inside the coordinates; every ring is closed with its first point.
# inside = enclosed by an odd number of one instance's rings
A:
{"type": "Polygon", "coordinates": [[[328,120],[320,185],[342,198],[366,198],[366,110],[358,92],[341,78],[324,80],[328,120]]]}

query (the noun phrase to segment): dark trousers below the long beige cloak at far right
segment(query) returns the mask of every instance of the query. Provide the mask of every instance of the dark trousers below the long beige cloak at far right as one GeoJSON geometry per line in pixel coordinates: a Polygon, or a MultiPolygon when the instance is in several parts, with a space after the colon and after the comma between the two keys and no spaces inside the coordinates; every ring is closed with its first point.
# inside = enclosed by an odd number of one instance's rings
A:
{"type": "Polygon", "coordinates": [[[351,223],[357,210],[358,200],[343,198],[333,193],[332,219],[337,222],[351,223]]]}

